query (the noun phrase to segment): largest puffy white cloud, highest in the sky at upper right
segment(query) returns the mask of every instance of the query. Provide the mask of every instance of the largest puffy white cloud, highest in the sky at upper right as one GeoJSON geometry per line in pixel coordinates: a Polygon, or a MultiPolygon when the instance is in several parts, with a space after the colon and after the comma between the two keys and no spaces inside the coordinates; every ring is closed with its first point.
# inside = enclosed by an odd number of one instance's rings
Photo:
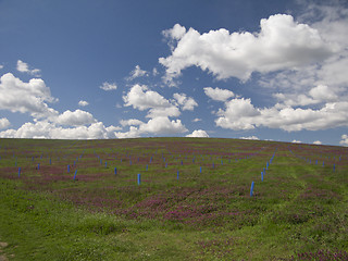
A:
{"type": "Polygon", "coordinates": [[[269,73],[323,61],[336,50],[318,29],[299,24],[286,14],[271,15],[260,22],[259,33],[232,33],[226,29],[200,34],[176,24],[163,34],[176,41],[172,54],[160,58],[167,79],[186,67],[208,70],[217,79],[247,80],[252,72],[269,73]]]}

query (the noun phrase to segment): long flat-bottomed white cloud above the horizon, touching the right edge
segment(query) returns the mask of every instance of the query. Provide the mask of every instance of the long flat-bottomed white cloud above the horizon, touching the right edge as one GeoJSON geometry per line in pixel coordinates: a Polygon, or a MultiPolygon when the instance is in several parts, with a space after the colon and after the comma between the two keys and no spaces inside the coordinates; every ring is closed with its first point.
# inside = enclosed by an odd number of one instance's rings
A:
{"type": "Polygon", "coordinates": [[[289,107],[254,108],[250,99],[233,99],[220,109],[216,126],[234,130],[253,129],[258,126],[282,128],[287,132],[319,130],[348,126],[348,102],[327,102],[321,109],[289,107]]]}

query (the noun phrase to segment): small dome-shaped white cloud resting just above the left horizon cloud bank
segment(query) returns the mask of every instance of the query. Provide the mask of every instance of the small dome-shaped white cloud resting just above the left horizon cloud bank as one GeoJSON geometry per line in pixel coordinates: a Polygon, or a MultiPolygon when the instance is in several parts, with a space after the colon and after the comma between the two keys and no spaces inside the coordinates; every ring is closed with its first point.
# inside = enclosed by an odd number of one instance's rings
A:
{"type": "Polygon", "coordinates": [[[80,126],[96,123],[96,119],[86,111],[76,110],[74,112],[67,110],[60,114],[55,122],[61,125],[80,126]]]}

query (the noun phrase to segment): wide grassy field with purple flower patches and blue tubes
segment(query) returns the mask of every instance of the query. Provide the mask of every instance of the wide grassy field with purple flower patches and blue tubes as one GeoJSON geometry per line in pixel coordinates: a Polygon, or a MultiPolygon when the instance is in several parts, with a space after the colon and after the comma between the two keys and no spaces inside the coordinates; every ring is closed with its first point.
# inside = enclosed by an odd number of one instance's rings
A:
{"type": "Polygon", "coordinates": [[[348,148],[0,139],[0,157],[3,259],[348,260],[348,148]]]}

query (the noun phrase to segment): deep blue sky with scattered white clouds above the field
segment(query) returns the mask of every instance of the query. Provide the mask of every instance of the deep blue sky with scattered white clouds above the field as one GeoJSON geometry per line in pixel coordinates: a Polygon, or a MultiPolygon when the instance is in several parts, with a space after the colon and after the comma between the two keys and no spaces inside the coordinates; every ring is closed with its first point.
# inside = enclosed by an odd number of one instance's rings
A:
{"type": "Polygon", "coordinates": [[[348,146],[346,1],[0,1],[0,137],[348,146]]]}

